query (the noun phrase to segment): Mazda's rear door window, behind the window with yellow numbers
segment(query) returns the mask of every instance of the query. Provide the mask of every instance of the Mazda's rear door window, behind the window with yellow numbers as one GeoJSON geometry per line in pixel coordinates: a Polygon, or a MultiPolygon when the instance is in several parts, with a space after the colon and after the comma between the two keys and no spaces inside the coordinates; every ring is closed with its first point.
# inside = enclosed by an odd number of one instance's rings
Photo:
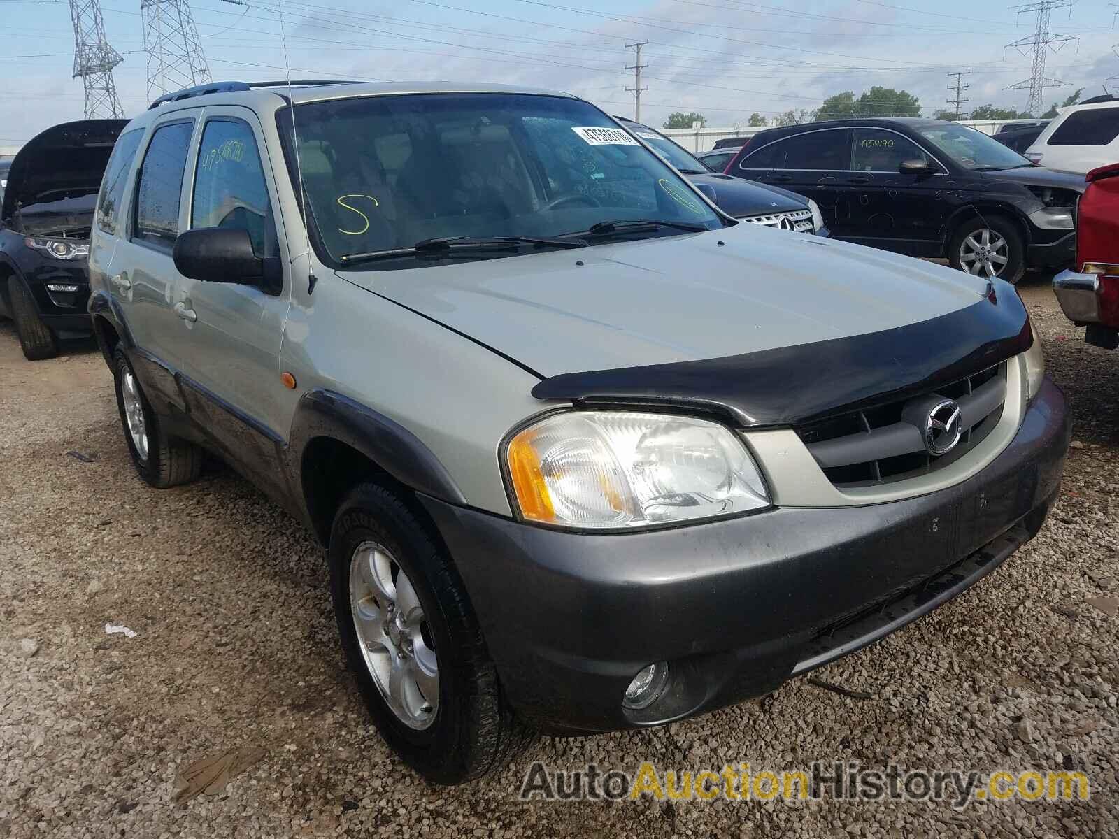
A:
{"type": "Polygon", "coordinates": [[[151,135],[137,183],[133,238],[171,248],[179,235],[179,197],[194,121],[160,125],[151,135]]]}

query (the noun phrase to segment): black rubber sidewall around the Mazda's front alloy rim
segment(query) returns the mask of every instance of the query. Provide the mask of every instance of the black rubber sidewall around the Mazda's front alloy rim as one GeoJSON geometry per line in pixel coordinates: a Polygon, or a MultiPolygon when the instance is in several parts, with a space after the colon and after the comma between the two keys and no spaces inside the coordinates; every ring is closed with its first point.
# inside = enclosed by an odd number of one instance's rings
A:
{"type": "MultiPolygon", "coordinates": [[[[404,760],[429,780],[457,783],[460,774],[463,726],[468,700],[478,690],[471,685],[469,667],[459,668],[458,651],[463,639],[454,637],[449,616],[435,595],[433,578],[448,568],[434,541],[407,513],[388,490],[366,484],[339,509],[330,536],[330,587],[338,632],[350,670],[354,672],[370,716],[382,736],[404,760]],[[389,496],[386,498],[386,496],[389,496]],[[404,515],[402,516],[402,510],[404,515]],[[439,661],[440,698],[435,720],[422,730],[401,722],[380,695],[361,654],[349,598],[349,566],[354,552],[365,541],[377,541],[392,552],[408,575],[423,606],[439,661]]],[[[455,630],[462,628],[455,626],[455,630]]],[[[496,701],[496,698],[495,698],[496,701]]]]}

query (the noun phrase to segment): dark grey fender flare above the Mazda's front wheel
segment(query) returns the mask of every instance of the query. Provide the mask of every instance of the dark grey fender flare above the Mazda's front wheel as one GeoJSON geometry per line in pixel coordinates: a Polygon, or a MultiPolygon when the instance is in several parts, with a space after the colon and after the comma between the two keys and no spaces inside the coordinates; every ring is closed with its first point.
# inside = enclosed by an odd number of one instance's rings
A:
{"type": "Polygon", "coordinates": [[[450,472],[415,434],[384,414],[326,389],[303,394],[292,417],[288,469],[297,487],[302,486],[307,446],[318,437],[336,440],[357,450],[416,492],[467,506],[450,472]]]}

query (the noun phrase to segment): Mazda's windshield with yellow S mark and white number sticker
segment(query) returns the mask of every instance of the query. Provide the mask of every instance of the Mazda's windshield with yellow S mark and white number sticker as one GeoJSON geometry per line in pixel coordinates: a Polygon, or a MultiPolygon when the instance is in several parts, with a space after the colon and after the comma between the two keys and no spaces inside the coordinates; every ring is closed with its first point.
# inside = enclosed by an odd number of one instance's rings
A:
{"type": "MultiPolygon", "coordinates": [[[[290,111],[278,113],[285,151],[291,123],[290,111]]],[[[527,94],[331,100],[298,105],[295,135],[311,224],[336,265],[442,237],[557,237],[634,218],[722,226],[657,155],[579,100],[527,94]]],[[[289,151],[294,170],[290,158],[289,151]]],[[[646,225],[626,235],[680,234],[646,225]]]]}

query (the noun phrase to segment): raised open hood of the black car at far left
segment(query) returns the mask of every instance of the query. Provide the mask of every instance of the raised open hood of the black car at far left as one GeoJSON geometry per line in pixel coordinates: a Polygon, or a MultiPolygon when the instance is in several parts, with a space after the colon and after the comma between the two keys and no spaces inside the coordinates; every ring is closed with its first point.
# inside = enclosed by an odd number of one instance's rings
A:
{"type": "Polygon", "coordinates": [[[79,120],[54,125],[27,142],[11,161],[0,219],[17,209],[96,195],[109,155],[128,120],[79,120]]]}

